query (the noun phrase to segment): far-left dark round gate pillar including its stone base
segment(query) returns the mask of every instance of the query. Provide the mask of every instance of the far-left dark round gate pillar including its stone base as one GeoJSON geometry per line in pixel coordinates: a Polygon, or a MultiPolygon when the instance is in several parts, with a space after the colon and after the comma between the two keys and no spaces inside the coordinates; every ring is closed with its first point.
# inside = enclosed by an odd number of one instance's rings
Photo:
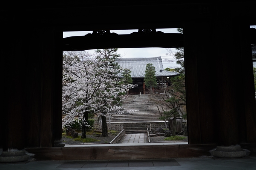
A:
{"type": "MultiPolygon", "coordinates": [[[[5,71],[3,83],[3,112],[0,118],[0,145],[3,152],[0,162],[27,161],[29,155],[24,150],[26,140],[26,66],[27,58],[20,52],[24,49],[24,35],[10,33],[14,25],[4,24],[3,49],[1,56],[4,58],[3,70],[5,71]]],[[[21,32],[24,30],[20,29],[21,32]]]]}

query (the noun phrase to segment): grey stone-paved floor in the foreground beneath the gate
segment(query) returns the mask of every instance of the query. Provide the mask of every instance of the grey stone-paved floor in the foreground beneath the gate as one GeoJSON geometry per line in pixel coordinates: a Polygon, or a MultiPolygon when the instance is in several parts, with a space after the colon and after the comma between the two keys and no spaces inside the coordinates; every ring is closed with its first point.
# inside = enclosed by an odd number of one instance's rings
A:
{"type": "Polygon", "coordinates": [[[31,161],[1,164],[0,170],[255,170],[256,157],[123,161],[31,161]]]}

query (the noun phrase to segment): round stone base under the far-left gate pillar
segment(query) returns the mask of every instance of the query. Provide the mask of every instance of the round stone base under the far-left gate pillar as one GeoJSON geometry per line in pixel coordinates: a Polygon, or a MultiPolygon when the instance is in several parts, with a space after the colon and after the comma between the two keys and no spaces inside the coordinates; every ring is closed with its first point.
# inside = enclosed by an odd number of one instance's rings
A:
{"type": "Polygon", "coordinates": [[[29,159],[29,155],[25,153],[25,150],[7,151],[2,152],[0,155],[0,162],[11,163],[11,162],[24,162],[29,159]]]}

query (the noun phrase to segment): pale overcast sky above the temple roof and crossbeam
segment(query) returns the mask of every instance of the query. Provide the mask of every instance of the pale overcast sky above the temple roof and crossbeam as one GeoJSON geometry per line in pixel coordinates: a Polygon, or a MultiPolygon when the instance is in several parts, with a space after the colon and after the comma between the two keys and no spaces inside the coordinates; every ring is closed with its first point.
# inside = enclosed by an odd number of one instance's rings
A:
{"type": "MultiPolygon", "coordinates": [[[[156,31],[162,31],[164,33],[178,33],[177,29],[157,29],[156,31]]],[[[115,32],[117,34],[130,34],[132,32],[138,32],[138,30],[114,30],[110,32],[115,32]]],[[[91,32],[63,32],[63,38],[70,36],[82,36],[91,32]]],[[[173,50],[175,50],[173,48],[173,50]]],[[[94,53],[95,50],[88,50],[90,53],[94,53]]],[[[159,57],[163,59],[163,68],[173,68],[177,67],[174,62],[166,62],[164,59],[173,60],[171,56],[166,55],[168,51],[166,48],[119,48],[117,53],[121,55],[122,58],[146,58],[146,57],[159,57]]]]}

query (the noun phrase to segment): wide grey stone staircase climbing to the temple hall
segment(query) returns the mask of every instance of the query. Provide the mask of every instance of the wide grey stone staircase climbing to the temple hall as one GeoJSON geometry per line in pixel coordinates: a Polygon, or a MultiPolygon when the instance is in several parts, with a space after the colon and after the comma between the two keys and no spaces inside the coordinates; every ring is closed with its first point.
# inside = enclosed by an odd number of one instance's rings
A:
{"type": "Polygon", "coordinates": [[[159,119],[160,114],[152,99],[154,99],[152,95],[129,95],[122,104],[124,108],[134,111],[113,114],[111,123],[122,123],[126,133],[143,133],[150,123],[163,123],[164,121],[159,119]]]}

